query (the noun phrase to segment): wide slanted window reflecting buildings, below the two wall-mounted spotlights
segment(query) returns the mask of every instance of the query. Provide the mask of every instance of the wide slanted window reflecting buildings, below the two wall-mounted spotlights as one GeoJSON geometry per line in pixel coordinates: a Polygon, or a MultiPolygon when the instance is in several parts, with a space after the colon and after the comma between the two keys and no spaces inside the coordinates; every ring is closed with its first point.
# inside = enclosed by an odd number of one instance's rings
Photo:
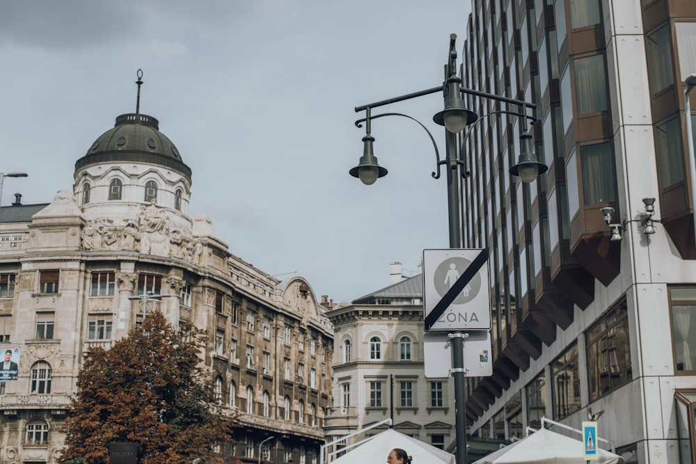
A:
{"type": "Polygon", "coordinates": [[[612,307],[585,333],[590,401],[631,380],[631,344],[626,300],[612,307]]]}

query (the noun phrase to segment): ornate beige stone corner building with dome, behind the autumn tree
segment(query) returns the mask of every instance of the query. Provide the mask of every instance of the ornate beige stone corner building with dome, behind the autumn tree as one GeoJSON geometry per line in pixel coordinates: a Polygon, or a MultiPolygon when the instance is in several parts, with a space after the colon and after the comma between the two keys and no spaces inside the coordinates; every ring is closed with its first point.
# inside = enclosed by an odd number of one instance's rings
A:
{"type": "Polygon", "coordinates": [[[77,160],[72,192],[0,209],[0,342],[21,353],[17,380],[0,383],[1,462],[56,462],[89,349],[157,307],[207,329],[202,362],[241,426],[219,448],[229,462],[316,463],[331,404],[328,303],[303,278],[230,254],[205,214],[189,217],[190,194],[175,145],[136,112],[77,160]],[[150,292],[165,297],[132,298],[150,292]]]}

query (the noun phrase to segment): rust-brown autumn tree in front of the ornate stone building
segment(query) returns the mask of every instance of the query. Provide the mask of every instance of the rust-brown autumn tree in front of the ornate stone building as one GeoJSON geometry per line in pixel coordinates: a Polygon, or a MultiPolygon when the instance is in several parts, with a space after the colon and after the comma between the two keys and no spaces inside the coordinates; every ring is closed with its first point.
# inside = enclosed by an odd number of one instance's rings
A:
{"type": "Polygon", "coordinates": [[[220,461],[233,424],[213,406],[209,374],[199,365],[205,331],[175,330],[157,311],[111,349],[90,350],[65,423],[61,461],[109,463],[112,442],[138,442],[139,462],[220,461]]]}

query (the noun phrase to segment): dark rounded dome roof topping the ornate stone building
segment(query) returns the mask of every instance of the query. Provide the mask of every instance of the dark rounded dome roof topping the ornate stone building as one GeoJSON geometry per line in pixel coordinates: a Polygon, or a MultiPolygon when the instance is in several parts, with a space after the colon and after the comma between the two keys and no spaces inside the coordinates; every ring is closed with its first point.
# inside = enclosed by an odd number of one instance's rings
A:
{"type": "Polygon", "coordinates": [[[115,162],[152,163],[191,179],[191,168],[184,164],[172,141],[159,131],[159,121],[141,113],[118,116],[113,129],[99,136],[77,160],[75,170],[115,162]]]}

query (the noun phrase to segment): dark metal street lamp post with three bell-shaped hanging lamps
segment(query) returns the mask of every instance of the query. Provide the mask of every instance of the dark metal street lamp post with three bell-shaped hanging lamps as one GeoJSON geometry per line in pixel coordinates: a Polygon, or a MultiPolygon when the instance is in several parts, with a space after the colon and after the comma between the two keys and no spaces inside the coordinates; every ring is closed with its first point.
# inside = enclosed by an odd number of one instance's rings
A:
{"type": "MultiPolygon", "coordinates": [[[[440,177],[440,166],[445,165],[447,171],[447,183],[448,183],[448,223],[449,223],[449,238],[450,238],[450,248],[460,248],[461,247],[461,223],[459,218],[459,168],[462,168],[461,176],[466,177],[468,173],[464,170],[464,161],[458,159],[457,157],[457,133],[463,131],[467,125],[473,124],[479,118],[477,114],[473,111],[469,111],[464,106],[464,100],[461,95],[463,93],[468,93],[471,95],[477,95],[479,97],[487,99],[495,99],[501,102],[506,102],[508,104],[514,104],[522,107],[521,113],[512,113],[520,116],[525,123],[523,124],[523,134],[522,138],[522,151],[519,156],[519,161],[515,166],[510,168],[510,174],[521,177],[523,182],[533,182],[539,173],[544,173],[546,171],[546,166],[539,163],[535,154],[532,153],[532,135],[526,131],[526,118],[531,118],[526,115],[526,109],[534,109],[536,106],[527,102],[521,102],[520,100],[509,99],[507,97],[501,97],[499,95],[493,95],[489,93],[479,92],[477,90],[470,90],[461,88],[461,79],[457,77],[457,51],[455,49],[455,41],[457,35],[450,35],[450,53],[448,58],[448,63],[445,65],[445,82],[442,86],[430,88],[427,90],[420,90],[420,92],[410,93],[408,95],[402,95],[400,97],[393,97],[390,99],[382,100],[381,102],[374,102],[371,104],[356,106],[356,113],[360,111],[365,111],[365,118],[356,121],[356,126],[362,127],[362,123],[365,122],[365,136],[363,137],[363,156],[358,162],[358,166],[352,168],[349,173],[354,177],[361,179],[363,184],[370,185],[373,184],[379,177],[387,175],[386,168],[379,166],[377,163],[377,157],[374,156],[374,150],[372,143],[374,142],[374,137],[371,134],[372,125],[371,122],[374,119],[381,118],[383,116],[398,115],[404,116],[411,120],[418,122],[418,124],[427,131],[430,136],[433,145],[435,147],[435,154],[437,160],[437,170],[432,173],[432,177],[438,179],[440,177]],[[438,125],[445,126],[445,159],[440,160],[440,155],[437,150],[437,144],[435,143],[434,137],[430,131],[422,125],[418,120],[411,118],[411,116],[404,115],[401,113],[382,113],[378,115],[372,115],[372,109],[377,106],[384,106],[387,104],[402,102],[406,99],[421,97],[423,95],[429,95],[436,92],[442,92],[444,98],[444,109],[436,115],[434,115],[433,120],[438,125]]],[[[507,113],[507,111],[505,111],[507,113]]],[[[531,118],[532,120],[534,118],[531,118]]],[[[454,420],[455,420],[455,431],[457,438],[457,463],[466,464],[466,368],[464,367],[464,333],[461,331],[455,331],[449,334],[449,338],[452,342],[452,377],[454,378],[454,420]]]]}

